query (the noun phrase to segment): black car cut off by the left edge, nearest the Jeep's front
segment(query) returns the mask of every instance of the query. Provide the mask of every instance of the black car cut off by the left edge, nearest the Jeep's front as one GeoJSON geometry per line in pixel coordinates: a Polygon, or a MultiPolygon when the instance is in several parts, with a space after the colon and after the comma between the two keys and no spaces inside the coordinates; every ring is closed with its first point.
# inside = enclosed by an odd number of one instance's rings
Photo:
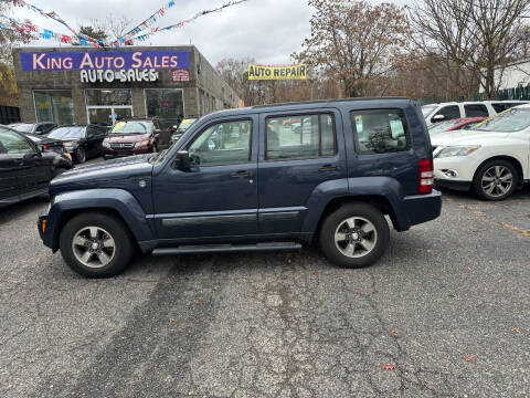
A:
{"type": "Polygon", "coordinates": [[[0,126],[0,207],[47,193],[50,180],[71,168],[64,156],[0,126]]]}

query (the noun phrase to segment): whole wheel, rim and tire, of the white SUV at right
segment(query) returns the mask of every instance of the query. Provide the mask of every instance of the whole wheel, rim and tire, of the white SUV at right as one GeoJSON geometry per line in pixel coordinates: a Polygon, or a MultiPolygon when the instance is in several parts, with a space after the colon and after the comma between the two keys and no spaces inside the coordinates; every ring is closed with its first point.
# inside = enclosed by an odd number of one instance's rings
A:
{"type": "Polygon", "coordinates": [[[502,200],[517,188],[518,172],[507,160],[494,159],[485,163],[477,171],[473,189],[480,199],[502,200]]]}

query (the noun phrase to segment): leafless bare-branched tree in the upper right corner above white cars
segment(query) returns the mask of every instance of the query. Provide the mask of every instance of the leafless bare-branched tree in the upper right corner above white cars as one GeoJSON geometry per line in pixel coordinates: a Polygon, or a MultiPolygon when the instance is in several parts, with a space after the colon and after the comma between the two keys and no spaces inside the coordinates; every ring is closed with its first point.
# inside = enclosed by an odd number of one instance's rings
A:
{"type": "MultiPolygon", "coordinates": [[[[415,51],[446,69],[446,96],[468,91],[469,77],[495,97],[504,67],[528,38],[521,18],[530,0],[424,0],[411,9],[415,51]],[[496,72],[497,71],[497,72],[496,72]]],[[[477,86],[478,88],[478,86],[477,86]]]]}

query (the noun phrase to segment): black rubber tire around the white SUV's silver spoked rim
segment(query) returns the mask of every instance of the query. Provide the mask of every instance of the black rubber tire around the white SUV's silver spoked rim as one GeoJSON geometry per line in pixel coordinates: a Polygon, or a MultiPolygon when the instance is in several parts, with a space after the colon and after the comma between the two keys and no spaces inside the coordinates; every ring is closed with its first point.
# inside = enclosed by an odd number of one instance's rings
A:
{"type": "Polygon", "coordinates": [[[475,179],[473,180],[473,191],[483,200],[504,200],[513,193],[518,185],[519,172],[517,172],[513,164],[508,160],[494,159],[486,161],[475,174],[475,179]],[[499,167],[499,170],[507,170],[507,172],[511,174],[512,179],[509,188],[507,187],[506,182],[502,182],[502,180],[499,179],[497,172],[492,170],[492,168],[496,166],[499,167]],[[485,178],[494,178],[494,181],[491,181],[492,186],[488,185],[489,181],[485,181],[485,178]],[[492,187],[491,192],[488,192],[489,187],[492,187]],[[502,192],[504,189],[507,189],[506,192],[502,192]]]}

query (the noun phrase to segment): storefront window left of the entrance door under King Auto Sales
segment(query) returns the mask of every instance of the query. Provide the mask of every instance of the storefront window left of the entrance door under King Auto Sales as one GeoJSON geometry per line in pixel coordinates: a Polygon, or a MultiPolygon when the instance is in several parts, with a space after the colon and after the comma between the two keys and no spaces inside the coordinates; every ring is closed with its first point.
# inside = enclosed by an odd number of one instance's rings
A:
{"type": "Polygon", "coordinates": [[[33,92],[36,121],[74,124],[74,102],[70,90],[39,90],[33,92]]]}

